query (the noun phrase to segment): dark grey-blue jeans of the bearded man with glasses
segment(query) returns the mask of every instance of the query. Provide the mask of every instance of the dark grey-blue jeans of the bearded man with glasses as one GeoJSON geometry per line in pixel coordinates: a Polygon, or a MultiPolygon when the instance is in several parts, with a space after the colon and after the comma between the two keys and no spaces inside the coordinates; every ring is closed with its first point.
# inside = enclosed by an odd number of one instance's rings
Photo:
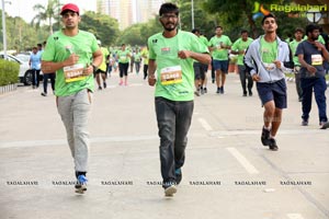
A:
{"type": "Polygon", "coordinates": [[[193,101],[175,102],[156,97],[163,184],[174,183],[174,170],[184,164],[193,108],[193,101]]]}

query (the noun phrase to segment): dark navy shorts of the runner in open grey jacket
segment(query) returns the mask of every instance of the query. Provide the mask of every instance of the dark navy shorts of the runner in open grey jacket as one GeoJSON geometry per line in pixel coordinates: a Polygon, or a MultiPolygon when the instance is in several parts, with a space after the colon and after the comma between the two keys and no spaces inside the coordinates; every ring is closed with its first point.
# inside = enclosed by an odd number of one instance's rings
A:
{"type": "Polygon", "coordinates": [[[286,84],[285,79],[273,83],[257,83],[257,91],[262,105],[269,101],[274,101],[276,108],[286,108],[286,84]]]}

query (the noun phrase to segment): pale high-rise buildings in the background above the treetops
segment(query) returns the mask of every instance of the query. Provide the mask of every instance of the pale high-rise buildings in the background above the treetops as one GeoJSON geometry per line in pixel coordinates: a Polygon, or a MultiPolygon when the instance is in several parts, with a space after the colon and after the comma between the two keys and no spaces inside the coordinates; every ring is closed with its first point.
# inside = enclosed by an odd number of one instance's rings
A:
{"type": "Polygon", "coordinates": [[[158,14],[164,0],[98,0],[97,10],[118,21],[121,30],[144,23],[158,14]]]}

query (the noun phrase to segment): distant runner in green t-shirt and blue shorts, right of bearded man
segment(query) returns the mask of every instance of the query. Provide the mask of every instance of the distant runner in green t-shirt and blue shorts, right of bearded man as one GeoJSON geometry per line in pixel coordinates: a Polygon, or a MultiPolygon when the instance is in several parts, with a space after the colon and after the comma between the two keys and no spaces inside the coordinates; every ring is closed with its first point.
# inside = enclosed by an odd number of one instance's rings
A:
{"type": "Polygon", "coordinates": [[[223,34],[223,26],[216,26],[216,35],[211,38],[208,46],[213,56],[213,68],[216,71],[216,93],[224,94],[226,73],[228,73],[228,49],[231,42],[223,34]]]}

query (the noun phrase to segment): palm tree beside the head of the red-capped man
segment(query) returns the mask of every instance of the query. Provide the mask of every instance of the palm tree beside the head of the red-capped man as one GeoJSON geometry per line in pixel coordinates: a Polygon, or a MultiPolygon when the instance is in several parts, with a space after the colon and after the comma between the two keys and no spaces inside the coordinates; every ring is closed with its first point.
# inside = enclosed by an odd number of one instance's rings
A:
{"type": "Polygon", "coordinates": [[[33,18],[31,24],[39,28],[42,22],[48,22],[49,34],[53,34],[53,19],[58,20],[60,5],[59,0],[48,0],[47,7],[39,3],[35,4],[33,10],[38,13],[33,18]]]}

